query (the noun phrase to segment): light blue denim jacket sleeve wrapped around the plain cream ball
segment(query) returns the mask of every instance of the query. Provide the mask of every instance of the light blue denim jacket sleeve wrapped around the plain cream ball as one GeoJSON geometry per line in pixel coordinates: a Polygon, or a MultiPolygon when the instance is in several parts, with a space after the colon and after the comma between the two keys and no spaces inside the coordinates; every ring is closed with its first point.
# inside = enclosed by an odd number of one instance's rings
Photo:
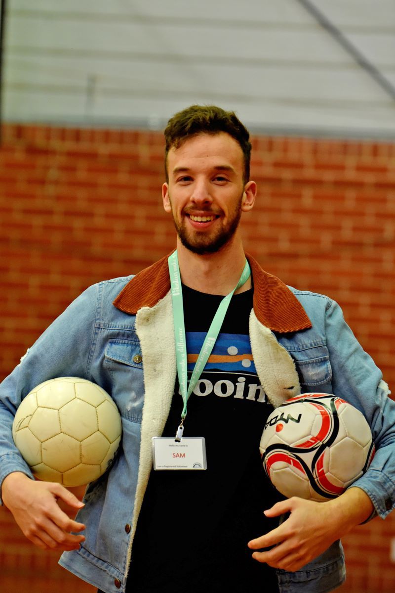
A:
{"type": "Polygon", "coordinates": [[[97,295],[94,285],[76,298],[0,385],[0,493],[4,478],[12,471],[22,471],[33,478],[12,439],[12,422],[21,400],[41,382],[52,378],[88,378],[97,295]]]}

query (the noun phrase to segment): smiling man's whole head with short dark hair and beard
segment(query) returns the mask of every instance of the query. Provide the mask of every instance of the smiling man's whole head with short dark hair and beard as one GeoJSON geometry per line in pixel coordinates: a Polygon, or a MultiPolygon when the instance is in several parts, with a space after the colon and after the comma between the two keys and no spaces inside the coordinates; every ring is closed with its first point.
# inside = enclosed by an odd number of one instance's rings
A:
{"type": "Polygon", "coordinates": [[[178,245],[204,255],[241,244],[240,216],[256,195],[255,181],[245,181],[248,131],[234,113],[192,106],[169,121],[165,136],[163,207],[172,213],[178,245]]]}

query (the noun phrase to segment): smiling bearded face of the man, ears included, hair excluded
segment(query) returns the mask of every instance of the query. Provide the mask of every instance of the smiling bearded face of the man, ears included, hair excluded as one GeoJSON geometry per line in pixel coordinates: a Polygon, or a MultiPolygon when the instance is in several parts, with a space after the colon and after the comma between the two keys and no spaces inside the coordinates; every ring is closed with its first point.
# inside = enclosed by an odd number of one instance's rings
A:
{"type": "Polygon", "coordinates": [[[179,240],[194,253],[219,251],[235,235],[242,211],[252,208],[252,193],[255,198],[255,183],[243,183],[240,145],[224,132],[200,134],[171,148],[167,165],[163,206],[179,240]]]}

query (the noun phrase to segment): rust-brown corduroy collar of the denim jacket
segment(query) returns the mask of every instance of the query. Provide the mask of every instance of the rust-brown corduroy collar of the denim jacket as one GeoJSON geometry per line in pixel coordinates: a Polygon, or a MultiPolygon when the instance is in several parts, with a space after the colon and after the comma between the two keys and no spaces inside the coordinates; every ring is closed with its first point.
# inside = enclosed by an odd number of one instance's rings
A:
{"type": "MultiPolygon", "coordinates": [[[[293,292],[281,280],[262,270],[246,254],[253,278],[253,309],[258,320],[272,331],[288,333],[311,327],[309,317],[293,292]]],[[[153,307],[170,290],[168,256],[134,276],[115,298],[114,305],[136,315],[142,307],[153,307]]]]}

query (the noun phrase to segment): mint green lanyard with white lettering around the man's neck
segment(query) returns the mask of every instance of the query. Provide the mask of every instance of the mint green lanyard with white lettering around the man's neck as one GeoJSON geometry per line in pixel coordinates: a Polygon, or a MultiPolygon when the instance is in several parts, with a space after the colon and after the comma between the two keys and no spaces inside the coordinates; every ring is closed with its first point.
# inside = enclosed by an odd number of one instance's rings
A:
{"type": "Polygon", "coordinates": [[[177,361],[177,374],[179,381],[179,388],[181,391],[182,400],[184,401],[184,407],[181,413],[181,423],[176,434],[176,440],[181,440],[182,431],[184,430],[184,420],[187,416],[187,402],[194,390],[200,375],[203,372],[205,364],[210,357],[211,351],[213,350],[214,344],[217,341],[218,334],[226,315],[227,308],[229,307],[230,299],[233,297],[233,293],[243,286],[243,284],[249,279],[251,275],[251,269],[249,263],[246,260],[242,275],[240,276],[239,282],[232,292],[229,292],[226,297],[222,299],[220,305],[214,315],[213,321],[211,321],[210,329],[205,336],[203,346],[201,347],[198,359],[195,363],[192,377],[188,386],[188,362],[187,362],[187,339],[185,337],[185,325],[184,325],[184,308],[182,305],[182,289],[181,289],[181,277],[179,275],[179,265],[177,251],[169,256],[169,273],[170,273],[170,285],[173,303],[173,317],[174,317],[174,334],[175,334],[175,353],[177,361]]]}

